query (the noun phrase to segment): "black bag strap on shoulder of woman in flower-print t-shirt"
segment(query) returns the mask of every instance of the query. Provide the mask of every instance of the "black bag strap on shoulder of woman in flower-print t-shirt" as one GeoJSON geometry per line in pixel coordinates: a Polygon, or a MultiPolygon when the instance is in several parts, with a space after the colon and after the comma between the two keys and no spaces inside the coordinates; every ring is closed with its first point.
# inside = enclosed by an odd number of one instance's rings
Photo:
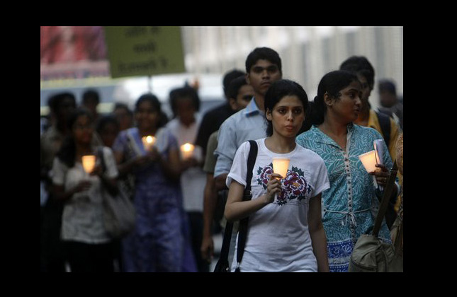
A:
{"type": "MultiPolygon", "coordinates": [[[[251,144],[251,149],[249,150],[249,157],[247,159],[247,177],[246,177],[246,187],[244,187],[243,201],[248,201],[252,199],[251,192],[251,180],[252,180],[252,170],[254,169],[254,164],[256,163],[257,158],[257,143],[254,140],[249,140],[251,144]]],[[[235,272],[239,272],[239,264],[243,258],[244,245],[246,245],[247,238],[247,222],[249,216],[239,221],[238,228],[238,248],[237,248],[237,268],[235,272]]]]}

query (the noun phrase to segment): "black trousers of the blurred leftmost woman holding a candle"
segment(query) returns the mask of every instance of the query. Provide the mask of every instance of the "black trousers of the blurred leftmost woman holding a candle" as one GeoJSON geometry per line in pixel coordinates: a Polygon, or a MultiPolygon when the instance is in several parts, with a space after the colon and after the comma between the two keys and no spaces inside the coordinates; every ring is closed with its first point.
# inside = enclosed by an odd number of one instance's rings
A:
{"type": "Polygon", "coordinates": [[[71,272],[114,272],[113,243],[65,241],[71,272]]]}

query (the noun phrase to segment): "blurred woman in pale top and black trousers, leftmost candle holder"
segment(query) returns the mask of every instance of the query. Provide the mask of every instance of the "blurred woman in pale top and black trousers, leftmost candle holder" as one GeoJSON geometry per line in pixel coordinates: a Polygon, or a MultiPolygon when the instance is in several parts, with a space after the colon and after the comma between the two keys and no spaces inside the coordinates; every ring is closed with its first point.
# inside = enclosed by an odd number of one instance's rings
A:
{"type": "Polygon", "coordinates": [[[52,182],[55,199],[64,202],[61,238],[69,267],[71,272],[113,272],[113,245],[103,225],[102,207],[102,190],[118,190],[113,152],[101,147],[103,173],[100,161],[94,162],[100,146],[92,143],[94,124],[88,110],[76,110],[68,127],[71,134],[54,158],[52,182]]]}

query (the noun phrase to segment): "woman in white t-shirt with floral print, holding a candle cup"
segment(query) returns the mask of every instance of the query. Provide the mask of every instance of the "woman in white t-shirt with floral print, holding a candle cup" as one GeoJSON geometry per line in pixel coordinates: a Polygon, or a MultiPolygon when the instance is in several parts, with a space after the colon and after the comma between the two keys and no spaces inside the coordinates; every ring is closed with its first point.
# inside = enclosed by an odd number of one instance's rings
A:
{"type": "Polygon", "coordinates": [[[256,140],[252,200],[242,201],[249,141],[235,154],[226,181],[225,217],[237,221],[249,216],[241,272],[329,271],[321,221],[321,194],[329,188],[327,168],[317,153],[295,143],[306,107],[308,96],[298,83],[284,79],[271,84],[265,95],[267,137],[256,140]],[[273,173],[275,157],[290,159],[285,177],[273,173]]]}

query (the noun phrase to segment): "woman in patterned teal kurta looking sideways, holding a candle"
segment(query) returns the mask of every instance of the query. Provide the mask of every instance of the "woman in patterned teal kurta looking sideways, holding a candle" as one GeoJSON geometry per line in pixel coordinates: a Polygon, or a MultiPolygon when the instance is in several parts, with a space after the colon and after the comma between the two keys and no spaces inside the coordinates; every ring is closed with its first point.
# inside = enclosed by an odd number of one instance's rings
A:
{"type": "MultiPolygon", "coordinates": [[[[322,157],[329,173],[330,189],[322,193],[322,223],[327,236],[330,272],[347,272],[356,240],[371,233],[378,199],[371,175],[385,187],[393,165],[383,142],[383,164],[367,173],[359,156],[373,151],[373,141],[383,139],[376,129],[354,121],[361,112],[361,83],[349,71],[331,71],[322,77],[312,112],[312,127],[297,136],[297,144],[322,157]]],[[[396,194],[395,190],[393,194],[396,194]]],[[[383,221],[380,238],[390,241],[383,221]]]]}

